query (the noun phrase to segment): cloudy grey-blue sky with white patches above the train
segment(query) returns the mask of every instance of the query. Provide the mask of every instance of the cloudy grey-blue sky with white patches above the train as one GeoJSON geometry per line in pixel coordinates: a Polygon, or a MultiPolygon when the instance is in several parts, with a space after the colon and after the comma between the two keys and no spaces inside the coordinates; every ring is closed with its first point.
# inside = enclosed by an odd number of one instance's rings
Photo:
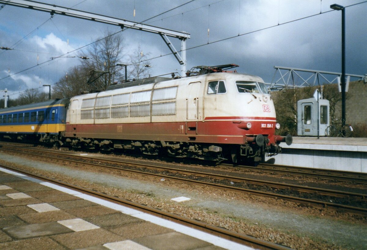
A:
{"type": "MultiPolygon", "coordinates": [[[[341,72],[341,11],[330,9],[331,4],[337,3],[349,6],[346,73],[367,73],[364,0],[39,1],[135,22],[187,3],[146,24],[190,33],[186,42],[188,69],[233,63],[240,65],[238,72],[261,76],[268,83],[273,79],[275,65],[341,72]],[[226,39],[229,37],[233,38],[226,39]]],[[[50,18],[47,12],[4,6],[0,10],[0,47],[13,50],[0,50],[0,90],[7,88],[10,98],[28,88],[41,87],[47,92],[48,88],[42,85],[56,84],[70,67],[80,64],[80,59],[70,57],[86,52],[87,47],[78,48],[103,37],[107,29],[121,30],[117,26],[61,15],[50,18]],[[67,57],[49,61],[63,54],[67,57]]],[[[126,59],[139,46],[144,54],[149,53],[148,58],[159,57],[151,60],[152,76],[180,71],[173,55],[160,57],[170,51],[159,35],[131,29],[120,34],[126,59]]],[[[181,48],[178,39],[170,40],[177,50],[181,48]]]]}

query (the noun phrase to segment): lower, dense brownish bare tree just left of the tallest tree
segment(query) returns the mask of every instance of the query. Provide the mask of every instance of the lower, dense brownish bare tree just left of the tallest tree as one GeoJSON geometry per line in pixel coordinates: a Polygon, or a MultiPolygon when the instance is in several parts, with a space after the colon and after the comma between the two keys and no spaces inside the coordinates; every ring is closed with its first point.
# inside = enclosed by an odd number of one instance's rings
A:
{"type": "Polygon", "coordinates": [[[69,69],[68,75],[61,77],[58,83],[52,86],[52,98],[70,98],[90,91],[88,78],[89,69],[83,65],[69,69]]]}

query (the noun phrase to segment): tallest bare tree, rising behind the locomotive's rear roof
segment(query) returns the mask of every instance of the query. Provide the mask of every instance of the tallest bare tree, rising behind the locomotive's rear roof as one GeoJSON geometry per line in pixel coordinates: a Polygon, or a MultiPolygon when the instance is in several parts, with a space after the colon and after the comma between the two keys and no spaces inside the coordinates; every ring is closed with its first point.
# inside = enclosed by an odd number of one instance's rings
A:
{"type": "Polygon", "coordinates": [[[122,79],[122,74],[117,71],[116,64],[124,56],[123,37],[120,33],[113,35],[109,30],[106,31],[104,36],[104,39],[88,48],[90,59],[82,60],[84,68],[108,72],[93,83],[95,89],[99,90],[105,90],[115,81],[122,79]]]}

